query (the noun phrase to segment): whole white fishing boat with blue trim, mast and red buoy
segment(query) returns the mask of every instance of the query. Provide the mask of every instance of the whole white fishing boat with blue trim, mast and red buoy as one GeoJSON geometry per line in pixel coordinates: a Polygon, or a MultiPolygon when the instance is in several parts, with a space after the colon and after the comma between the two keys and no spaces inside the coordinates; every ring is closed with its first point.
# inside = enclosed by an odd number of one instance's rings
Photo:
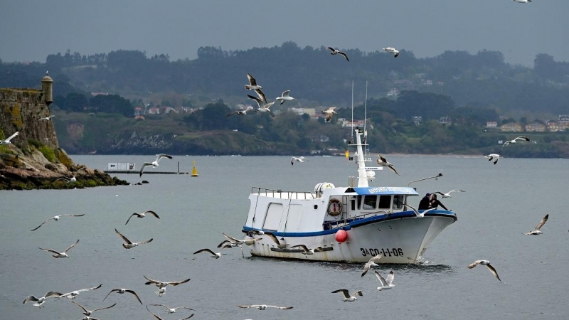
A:
{"type": "Polygon", "coordinates": [[[457,215],[437,209],[417,218],[404,206],[409,197],[419,195],[414,188],[370,187],[368,181],[376,179],[376,171],[383,168],[366,166],[372,160],[362,135],[367,137],[356,129],[356,142],[349,144],[356,148],[349,161],[356,164],[358,173],[349,177],[349,186],[323,182],[312,192],[252,188],[243,232],[262,238],[249,246],[252,256],[368,262],[381,253],[377,263],[420,262],[430,243],[457,215]],[[254,235],[255,231],[272,233],[279,243],[268,235],[254,235]]]}

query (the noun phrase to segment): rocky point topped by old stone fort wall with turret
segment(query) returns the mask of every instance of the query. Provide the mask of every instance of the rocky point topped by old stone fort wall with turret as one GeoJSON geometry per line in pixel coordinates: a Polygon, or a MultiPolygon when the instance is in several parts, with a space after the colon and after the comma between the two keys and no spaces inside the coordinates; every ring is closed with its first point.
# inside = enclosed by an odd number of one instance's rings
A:
{"type": "Polygon", "coordinates": [[[43,89],[0,89],[0,190],[85,188],[129,184],[105,172],[74,164],[60,149],[50,116],[51,78],[43,89]]]}

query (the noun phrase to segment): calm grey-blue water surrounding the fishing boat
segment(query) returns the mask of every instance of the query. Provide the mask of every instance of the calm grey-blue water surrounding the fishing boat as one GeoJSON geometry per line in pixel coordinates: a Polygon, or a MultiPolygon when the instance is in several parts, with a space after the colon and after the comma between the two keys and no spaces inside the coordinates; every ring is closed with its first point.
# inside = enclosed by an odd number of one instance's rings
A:
{"type": "MultiPolygon", "coordinates": [[[[154,160],[153,156],[73,156],[92,169],[107,162],[154,160]]],[[[81,309],[68,299],[48,299],[38,309],[22,304],[28,295],[50,290],[83,292],[76,301],[87,309],[117,303],[97,311],[98,319],[152,319],[129,294],[111,294],[115,288],[136,291],[144,304],[188,306],[193,319],[567,319],[569,215],[569,161],[567,159],[500,159],[494,166],[482,157],[388,156],[401,176],[378,172],[371,186],[407,186],[409,181],[439,172],[444,175],[413,183],[423,194],[462,189],[442,203],[457,212],[458,221],[444,230],[425,252],[425,265],[382,265],[395,270],[396,287],[378,292],[373,273],[360,277],[362,265],[292,262],[252,258],[239,249],[225,250],[216,260],[198,249],[214,249],[222,232],[240,238],[249,208],[251,187],[312,191],[319,182],[346,186],[356,175],[355,165],[340,157],[309,157],[289,164],[282,156],[174,156],[159,168],[191,171],[196,161],[199,177],[142,176],[143,186],[100,187],[68,191],[0,191],[0,319],[82,319],[81,309]],[[381,180],[381,181],[380,181],[381,180]],[[154,210],[160,220],[132,218],[134,212],[154,210]],[[80,218],[50,220],[58,214],[85,214],[80,218]],[[543,235],[526,236],[546,213],[543,235]],[[124,250],[115,228],[134,241],[154,241],[124,250]],[[68,259],[54,259],[38,247],[65,250],[68,259]],[[486,267],[473,270],[474,260],[490,260],[502,282],[486,267]],[[167,287],[158,297],[143,275],[162,281],[191,278],[167,287]],[[341,302],[335,289],[363,290],[357,302],[341,302]],[[239,309],[236,304],[277,304],[291,310],[239,309]]],[[[137,174],[120,174],[129,182],[137,174]]],[[[420,197],[410,201],[418,204],[420,197]]],[[[154,307],[164,319],[174,315],[154,307]]],[[[177,317],[176,317],[177,316],[177,317]]]]}

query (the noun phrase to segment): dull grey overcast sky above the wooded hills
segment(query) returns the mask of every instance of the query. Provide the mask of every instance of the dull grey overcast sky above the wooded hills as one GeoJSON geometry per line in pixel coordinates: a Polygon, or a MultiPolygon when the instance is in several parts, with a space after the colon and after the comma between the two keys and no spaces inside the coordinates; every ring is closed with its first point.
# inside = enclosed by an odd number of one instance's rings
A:
{"type": "Polygon", "coordinates": [[[538,53],[569,61],[569,0],[2,0],[0,59],[112,50],[197,58],[223,50],[333,46],[365,52],[392,46],[418,58],[445,50],[498,50],[533,66],[538,53]]]}

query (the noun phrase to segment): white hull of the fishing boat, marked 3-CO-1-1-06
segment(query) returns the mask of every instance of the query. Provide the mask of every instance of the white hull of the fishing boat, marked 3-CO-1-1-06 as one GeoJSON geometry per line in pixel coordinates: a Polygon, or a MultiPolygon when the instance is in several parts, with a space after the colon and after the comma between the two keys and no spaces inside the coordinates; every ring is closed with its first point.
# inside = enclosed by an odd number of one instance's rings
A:
{"type": "Polygon", "coordinates": [[[252,256],[280,257],[299,260],[329,262],[368,262],[381,253],[383,257],[378,263],[415,264],[423,252],[437,235],[457,220],[450,211],[445,214],[434,213],[425,218],[393,218],[345,228],[348,238],[345,242],[335,239],[336,233],[326,235],[295,235],[294,233],[277,233],[278,238],[285,238],[287,247],[280,249],[268,236],[250,246],[252,256]],[[451,214],[449,214],[451,213],[451,214]],[[294,245],[306,245],[309,249],[324,247],[314,255],[304,255],[294,245]]]}

